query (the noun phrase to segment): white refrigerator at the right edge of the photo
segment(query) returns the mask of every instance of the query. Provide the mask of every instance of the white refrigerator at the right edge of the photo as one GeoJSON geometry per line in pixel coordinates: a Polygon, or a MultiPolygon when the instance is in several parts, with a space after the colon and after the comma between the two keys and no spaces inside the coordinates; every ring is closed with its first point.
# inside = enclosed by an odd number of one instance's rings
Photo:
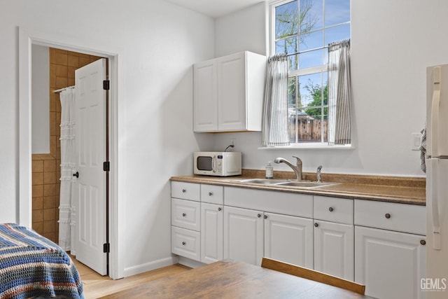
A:
{"type": "Polygon", "coordinates": [[[427,68],[426,298],[448,298],[448,64],[427,68]]]}

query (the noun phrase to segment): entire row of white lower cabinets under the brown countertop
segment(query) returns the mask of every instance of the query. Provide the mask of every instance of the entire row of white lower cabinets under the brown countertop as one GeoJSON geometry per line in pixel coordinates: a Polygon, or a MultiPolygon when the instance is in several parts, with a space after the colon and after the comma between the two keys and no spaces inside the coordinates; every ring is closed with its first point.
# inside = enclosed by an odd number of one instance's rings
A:
{"type": "Polygon", "coordinates": [[[365,284],[375,298],[425,298],[426,207],[172,183],[172,253],[202,263],[263,256],[365,284]]]}

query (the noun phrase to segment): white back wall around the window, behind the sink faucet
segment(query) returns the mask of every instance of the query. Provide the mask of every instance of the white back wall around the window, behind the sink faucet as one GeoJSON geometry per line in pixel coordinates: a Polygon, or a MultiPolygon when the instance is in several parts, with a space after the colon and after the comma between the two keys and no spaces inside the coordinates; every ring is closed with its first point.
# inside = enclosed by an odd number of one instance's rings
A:
{"type": "MultiPolygon", "coordinates": [[[[265,54],[265,15],[258,4],[216,20],[216,55],[242,50],[265,54]],[[258,24],[255,26],[254,24],[258,24]]],[[[411,133],[425,123],[426,67],[448,62],[448,2],[352,1],[351,75],[353,150],[259,150],[261,134],[216,134],[221,150],[230,138],[244,153],[243,167],[263,169],[276,157],[302,158],[304,171],[424,176],[411,133]]],[[[275,169],[288,170],[284,165],[275,169]]]]}

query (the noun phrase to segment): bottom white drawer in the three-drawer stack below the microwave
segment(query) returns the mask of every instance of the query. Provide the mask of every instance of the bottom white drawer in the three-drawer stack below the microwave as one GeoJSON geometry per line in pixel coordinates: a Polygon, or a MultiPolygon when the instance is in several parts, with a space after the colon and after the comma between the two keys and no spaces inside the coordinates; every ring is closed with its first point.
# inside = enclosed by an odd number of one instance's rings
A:
{"type": "Polygon", "coordinates": [[[172,226],[171,251],[192,260],[201,260],[201,233],[172,226]]]}

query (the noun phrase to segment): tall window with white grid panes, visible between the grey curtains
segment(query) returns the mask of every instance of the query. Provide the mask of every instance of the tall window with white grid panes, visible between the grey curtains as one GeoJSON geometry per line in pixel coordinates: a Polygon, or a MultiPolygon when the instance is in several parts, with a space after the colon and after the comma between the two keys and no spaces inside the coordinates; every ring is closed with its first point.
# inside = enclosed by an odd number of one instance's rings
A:
{"type": "Polygon", "coordinates": [[[291,144],[328,141],[328,44],[350,39],[350,0],[271,2],[271,53],[288,55],[291,144]]]}

